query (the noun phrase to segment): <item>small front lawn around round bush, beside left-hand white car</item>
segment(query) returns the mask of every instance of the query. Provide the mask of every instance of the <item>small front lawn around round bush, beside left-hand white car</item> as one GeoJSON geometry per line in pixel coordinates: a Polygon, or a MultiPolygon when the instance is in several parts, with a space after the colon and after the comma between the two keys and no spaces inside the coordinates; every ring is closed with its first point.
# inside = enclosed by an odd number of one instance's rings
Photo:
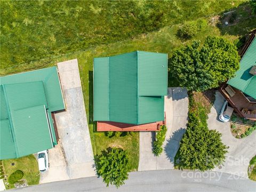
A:
{"type": "MultiPolygon", "coordinates": [[[[37,185],[39,183],[40,175],[38,171],[38,164],[34,155],[28,155],[17,159],[3,160],[4,174],[10,176],[13,172],[21,170],[24,175],[22,179],[26,179],[28,185],[37,185]],[[12,166],[12,163],[14,165],[12,166]]],[[[6,189],[14,188],[13,184],[5,186],[6,189]]]]}

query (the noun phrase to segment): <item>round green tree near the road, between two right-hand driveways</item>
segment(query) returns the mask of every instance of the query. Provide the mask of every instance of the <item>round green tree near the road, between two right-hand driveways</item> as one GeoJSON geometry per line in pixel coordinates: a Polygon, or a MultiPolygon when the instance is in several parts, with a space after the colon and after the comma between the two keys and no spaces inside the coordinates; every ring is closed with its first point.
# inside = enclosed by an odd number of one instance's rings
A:
{"type": "Polygon", "coordinates": [[[180,161],[186,169],[211,170],[224,162],[226,149],[216,130],[202,125],[188,127],[180,143],[180,161]]]}

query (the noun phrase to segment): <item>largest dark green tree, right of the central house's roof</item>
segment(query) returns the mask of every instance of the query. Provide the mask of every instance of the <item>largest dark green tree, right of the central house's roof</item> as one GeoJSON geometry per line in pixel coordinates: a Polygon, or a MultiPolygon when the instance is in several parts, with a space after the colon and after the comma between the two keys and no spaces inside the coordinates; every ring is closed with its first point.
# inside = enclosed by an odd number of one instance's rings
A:
{"type": "Polygon", "coordinates": [[[193,41],[175,50],[169,64],[181,86],[189,91],[205,91],[234,76],[239,68],[239,56],[233,43],[207,36],[202,48],[199,41],[193,41]]]}

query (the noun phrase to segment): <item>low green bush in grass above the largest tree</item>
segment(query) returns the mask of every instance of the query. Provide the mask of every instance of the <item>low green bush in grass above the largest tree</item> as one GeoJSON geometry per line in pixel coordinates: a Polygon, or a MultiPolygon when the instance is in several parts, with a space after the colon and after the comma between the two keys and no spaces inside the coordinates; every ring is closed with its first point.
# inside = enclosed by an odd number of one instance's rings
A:
{"type": "Polygon", "coordinates": [[[199,31],[203,30],[207,26],[207,21],[199,19],[197,21],[188,21],[179,28],[177,34],[180,38],[190,39],[195,36],[199,31]]]}

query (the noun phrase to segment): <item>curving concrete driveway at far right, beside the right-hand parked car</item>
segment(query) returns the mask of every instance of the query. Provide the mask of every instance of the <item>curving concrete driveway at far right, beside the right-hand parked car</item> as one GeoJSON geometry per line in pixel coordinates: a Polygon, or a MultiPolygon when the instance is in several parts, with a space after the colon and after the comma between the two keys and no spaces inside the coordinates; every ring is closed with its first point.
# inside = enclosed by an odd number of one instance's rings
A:
{"type": "Polygon", "coordinates": [[[230,123],[220,122],[218,114],[224,102],[220,92],[215,94],[215,102],[208,115],[207,124],[209,129],[217,130],[222,134],[222,142],[229,146],[226,155],[226,162],[221,167],[216,167],[214,171],[225,172],[239,177],[248,178],[247,169],[251,158],[256,154],[256,131],[249,137],[236,139],[230,131],[230,123]]]}

